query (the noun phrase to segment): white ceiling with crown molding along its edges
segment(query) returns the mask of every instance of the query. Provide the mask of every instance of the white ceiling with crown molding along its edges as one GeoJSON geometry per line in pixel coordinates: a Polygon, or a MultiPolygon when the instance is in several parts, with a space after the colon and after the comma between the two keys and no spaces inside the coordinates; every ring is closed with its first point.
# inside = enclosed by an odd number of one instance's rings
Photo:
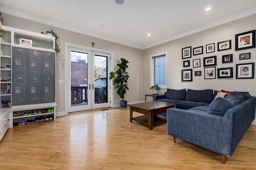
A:
{"type": "Polygon", "coordinates": [[[0,0],[0,12],[146,49],[256,14],[256,0],[0,0]]]}

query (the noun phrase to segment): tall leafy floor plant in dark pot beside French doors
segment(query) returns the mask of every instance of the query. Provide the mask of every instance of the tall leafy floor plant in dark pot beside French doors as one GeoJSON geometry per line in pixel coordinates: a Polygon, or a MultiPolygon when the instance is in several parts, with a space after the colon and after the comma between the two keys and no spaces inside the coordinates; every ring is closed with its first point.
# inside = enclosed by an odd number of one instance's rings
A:
{"type": "Polygon", "coordinates": [[[124,94],[126,94],[126,90],[129,90],[127,80],[129,78],[128,72],[126,72],[126,68],[128,68],[127,63],[130,63],[126,59],[120,59],[121,63],[116,64],[119,68],[116,72],[110,72],[109,79],[113,79],[113,86],[117,89],[117,94],[122,98],[120,101],[121,108],[126,108],[127,101],[124,100],[124,94]]]}

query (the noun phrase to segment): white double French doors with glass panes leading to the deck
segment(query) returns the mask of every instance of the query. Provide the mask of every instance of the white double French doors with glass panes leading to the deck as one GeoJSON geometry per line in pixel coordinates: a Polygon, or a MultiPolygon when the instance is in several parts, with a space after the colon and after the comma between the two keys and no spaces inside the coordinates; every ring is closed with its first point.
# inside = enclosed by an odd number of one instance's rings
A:
{"type": "Polygon", "coordinates": [[[68,112],[110,107],[110,55],[68,47],[68,112]]]}

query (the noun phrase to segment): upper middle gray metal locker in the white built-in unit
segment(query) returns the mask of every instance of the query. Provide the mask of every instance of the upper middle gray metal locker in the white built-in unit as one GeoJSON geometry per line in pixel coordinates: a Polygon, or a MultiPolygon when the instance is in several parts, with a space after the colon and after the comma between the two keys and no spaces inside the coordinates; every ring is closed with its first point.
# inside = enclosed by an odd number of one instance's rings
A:
{"type": "Polygon", "coordinates": [[[29,76],[41,77],[42,51],[29,50],[29,76]]]}

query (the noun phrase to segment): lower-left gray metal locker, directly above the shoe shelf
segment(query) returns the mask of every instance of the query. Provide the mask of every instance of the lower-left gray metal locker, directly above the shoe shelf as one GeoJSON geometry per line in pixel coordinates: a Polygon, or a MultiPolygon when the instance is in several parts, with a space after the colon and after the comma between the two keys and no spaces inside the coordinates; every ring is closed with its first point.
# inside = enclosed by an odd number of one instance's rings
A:
{"type": "Polygon", "coordinates": [[[25,76],[14,76],[12,79],[12,106],[28,104],[27,78],[25,76]]]}

